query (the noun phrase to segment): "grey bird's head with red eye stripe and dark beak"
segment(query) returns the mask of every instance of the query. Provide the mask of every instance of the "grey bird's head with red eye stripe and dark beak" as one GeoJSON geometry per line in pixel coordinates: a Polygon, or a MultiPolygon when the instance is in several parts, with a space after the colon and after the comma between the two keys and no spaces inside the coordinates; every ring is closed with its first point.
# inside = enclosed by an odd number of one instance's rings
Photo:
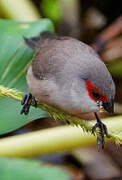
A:
{"type": "Polygon", "coordinates": [[[75,78],[77,89],[75,96],[72,93],[73,101],[82,112],[95,112],[103,107],[113,114],[115,84],[106,65],[95,56],[89,60],[84,57],[82,62],[76,70],[79,80],[75,78]]]}

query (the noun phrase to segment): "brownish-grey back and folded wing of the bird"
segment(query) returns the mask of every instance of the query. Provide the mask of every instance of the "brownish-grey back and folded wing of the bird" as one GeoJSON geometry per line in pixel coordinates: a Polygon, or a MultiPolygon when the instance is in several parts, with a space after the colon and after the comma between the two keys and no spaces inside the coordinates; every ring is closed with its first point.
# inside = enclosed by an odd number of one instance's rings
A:
{"type": "Polygon", "coordinates": [[[39,79],[59,77],[60,73],[67,67],[67,74],[69,70],[73,71],[74,69],[75,71],[78,70],[78,67],[87,67],[86,59],[87,56],[89,58],[91,55],[97,56],[89,46],[74,38],[43,33],[37,42],[32,70],[39,79]]]}

